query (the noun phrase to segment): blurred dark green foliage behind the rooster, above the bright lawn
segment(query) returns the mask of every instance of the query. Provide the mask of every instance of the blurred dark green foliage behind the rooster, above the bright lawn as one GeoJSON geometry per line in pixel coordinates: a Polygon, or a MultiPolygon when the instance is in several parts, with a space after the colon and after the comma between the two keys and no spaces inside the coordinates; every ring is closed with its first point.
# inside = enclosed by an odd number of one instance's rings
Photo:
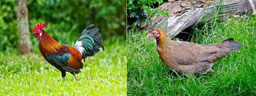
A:
{"type": "MultiPolygon", "coordinates": [[[[18,32],[15,0],[0,1],[0,51],[17,51],[18,32]]],[[[82,30],[95,24],[103,40],[126,39],[126,0],[28,0],[29,30],[33,50],[39,53],[33,24],[45,23],[44,30],[55,40],[74,46],[82,30]]],[[[39,53],[40,54],[40,53],[39,53]]]]}

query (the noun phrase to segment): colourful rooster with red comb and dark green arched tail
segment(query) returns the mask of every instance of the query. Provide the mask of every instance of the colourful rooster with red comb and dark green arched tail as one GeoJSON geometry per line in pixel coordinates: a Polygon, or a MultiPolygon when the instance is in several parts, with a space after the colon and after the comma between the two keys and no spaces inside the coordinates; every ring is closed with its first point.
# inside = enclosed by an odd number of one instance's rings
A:
{"type": "Polygon", "coordinates": [[[45,27],[44,23],[34,26],[33,34],[39,39],[40,52],[48,63],[59,69],[63,79],[65,79],[66,72],[70,72],[78,81],[75,74],[81,72],[80,69],[83,68],[82,59],[85,61],[87,56],[93,56],[99,52],[99,48],[104,51],[101,33],[98,32],[99,29],[89,30],[93,26],[94,24],[91,24],[83,30],[74,47],[54,40],[42,29],[45,27]]]}

